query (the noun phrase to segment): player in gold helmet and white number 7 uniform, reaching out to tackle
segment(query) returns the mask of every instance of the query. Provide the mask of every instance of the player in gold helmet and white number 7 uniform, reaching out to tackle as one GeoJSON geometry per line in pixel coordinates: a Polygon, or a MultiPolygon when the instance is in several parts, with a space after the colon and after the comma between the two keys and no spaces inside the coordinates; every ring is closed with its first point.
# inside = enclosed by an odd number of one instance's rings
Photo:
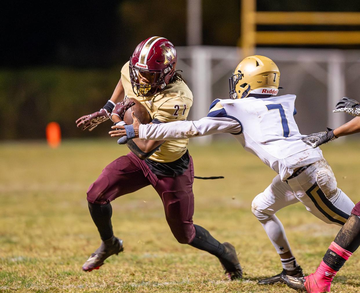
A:
{"type": "MultiPolygon", "coordinates": [[[[337,187],[337,182],[319,148],[301,139],[293,115],[295,95],[276,96],[280,72],[265,56],[242,60],[229,78],[230,99],[215,100],[207,117],[198,121],[139,124],[115,127],[111,136],[131,139],[173,140],[230,133],[245,150],[259,157],[278,175],[252,202],[252,212],[264,227],[278,252],[283,270],[259,284],[283,282],[283,275],[303,276],[292,254],[282,223],[275,213],[302,202],[325,223],[346,223],[354,203],[337,187]]],[[[123,138],[122,138],[123,139],[123,138]]]]}

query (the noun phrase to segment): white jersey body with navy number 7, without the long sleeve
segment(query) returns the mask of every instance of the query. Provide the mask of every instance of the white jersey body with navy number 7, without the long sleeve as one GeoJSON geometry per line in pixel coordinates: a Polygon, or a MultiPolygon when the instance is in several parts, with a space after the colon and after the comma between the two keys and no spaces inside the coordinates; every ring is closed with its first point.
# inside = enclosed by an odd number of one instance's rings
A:
{"type": "Polygon", "coordinates": [[[314,149],[301,140],[305,136],[294,119],[295,99],[295,95],[283,95],[215,100],[208,117],[237,120],[242,131],[232,133],[234,137],[285,180],[294,169],[323,158],[319,148],[314,149]]]}

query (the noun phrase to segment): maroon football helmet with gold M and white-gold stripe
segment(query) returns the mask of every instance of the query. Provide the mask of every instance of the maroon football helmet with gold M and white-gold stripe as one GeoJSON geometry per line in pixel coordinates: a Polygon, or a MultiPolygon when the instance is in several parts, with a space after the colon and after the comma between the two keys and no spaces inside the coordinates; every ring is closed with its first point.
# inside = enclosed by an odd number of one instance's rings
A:
{"type": "Polygon", "coordinates": [[[132,90],[136,96],[151,96],[162,91],[175,74],[177,55],[174,45],[162,37],[142,41],[130,58],[132,90]]]}

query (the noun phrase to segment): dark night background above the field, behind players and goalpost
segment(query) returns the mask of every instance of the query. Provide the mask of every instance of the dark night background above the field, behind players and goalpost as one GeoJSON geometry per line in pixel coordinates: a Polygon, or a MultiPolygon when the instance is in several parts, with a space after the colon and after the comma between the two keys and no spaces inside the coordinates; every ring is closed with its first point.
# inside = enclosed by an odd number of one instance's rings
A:
{"type": "MultiPolygon", "coordinates": [[[[186,45],[186,5],[186,0],[2,1],[1,139],[44,137],[45,126],[52,120],[60,123],[64,137],[89,135],[78,131],[73,122],[109,99],[121,66],[140,41],[159,35],[175,46],[186,45]],[[23,121],[31,131],[21,126],[23,121]]],[[[240,1],[203,0],[202,9],[202,44],[236,46],[240,1]]],[[[257,10],[359,12],[360,1],[258,0],[257,10]]],[[[305,28],[329,29],[258,27],[305,28]]]]}

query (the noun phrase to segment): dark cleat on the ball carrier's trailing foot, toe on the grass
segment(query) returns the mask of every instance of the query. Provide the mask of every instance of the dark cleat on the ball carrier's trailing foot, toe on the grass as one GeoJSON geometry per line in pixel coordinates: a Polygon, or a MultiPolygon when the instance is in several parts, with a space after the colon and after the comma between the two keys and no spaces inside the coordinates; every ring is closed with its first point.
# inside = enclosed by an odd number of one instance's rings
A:
{"type": "Polygon", "coordinates": [[[222,243],[225,246],[225,253],[219,257],[221,266],[225,270],[225,275],[229,280],[241,279],[243,277],[243,270],[240,266],[235,247],[229,242],[222,243]]]}

